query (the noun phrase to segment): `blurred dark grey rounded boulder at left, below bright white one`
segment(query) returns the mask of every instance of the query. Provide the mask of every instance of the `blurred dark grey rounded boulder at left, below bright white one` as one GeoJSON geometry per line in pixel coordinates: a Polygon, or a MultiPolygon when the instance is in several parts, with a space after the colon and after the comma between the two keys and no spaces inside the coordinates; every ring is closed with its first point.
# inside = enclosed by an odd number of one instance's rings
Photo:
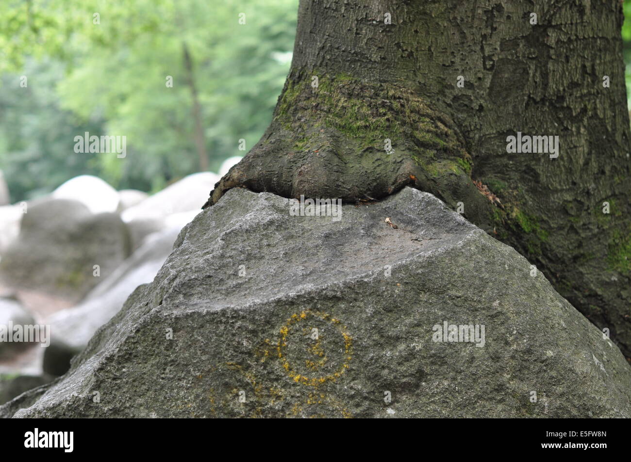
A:
{"type": "Polygon", "coordinates": [[[4,251],[0,280],[76,303],[122,263],[129,247],[117,214],[92,214],[76,200],[40,200],[23,214],[18,238],[4,251]]]}

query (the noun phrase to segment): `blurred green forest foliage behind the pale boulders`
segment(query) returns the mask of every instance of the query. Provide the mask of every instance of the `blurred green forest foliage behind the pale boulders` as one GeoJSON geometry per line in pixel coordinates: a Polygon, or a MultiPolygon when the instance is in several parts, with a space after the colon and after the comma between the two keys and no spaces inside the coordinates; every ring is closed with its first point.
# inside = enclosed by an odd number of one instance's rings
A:
{"type": "Polygon", "coordinates": [[[13,202],[83,173],[119,189],[158,190],[244,155],[281,93],[297,6],[0,3],[0,169],[13,202]],[[74,136],[84,132],[126,136],[126,158],[74,153],[74,136]],[[246,151],[239,151],[240,139],[246,151]]]}

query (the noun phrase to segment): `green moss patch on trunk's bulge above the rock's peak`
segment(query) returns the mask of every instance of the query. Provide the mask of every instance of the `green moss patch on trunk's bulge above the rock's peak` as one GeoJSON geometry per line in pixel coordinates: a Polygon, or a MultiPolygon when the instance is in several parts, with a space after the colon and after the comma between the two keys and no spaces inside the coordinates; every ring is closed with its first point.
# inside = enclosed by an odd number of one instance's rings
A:
{"type": "Polygon", "coordinates": [[[295,132],[322,123],[353,139],[360,150],[382,150],[386,139],[393,145],[404,139],[420,149],[459,153],[461,168],[471,171],[449,122],[408,88],[369,84],[345,74],[323,76],[317,88],[310,78],[290,80],[274,118],[295,132]]]}

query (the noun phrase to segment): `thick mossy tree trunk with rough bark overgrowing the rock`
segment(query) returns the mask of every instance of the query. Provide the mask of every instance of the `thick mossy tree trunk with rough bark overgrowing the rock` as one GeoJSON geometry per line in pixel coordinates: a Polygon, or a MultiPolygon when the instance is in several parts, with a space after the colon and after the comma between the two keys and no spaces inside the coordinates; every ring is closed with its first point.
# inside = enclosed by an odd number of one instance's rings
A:
{"type": "Polygon", "coordinates": [[[622,20],[618,0],[301,1],[273,122],[206,206],[232,187],[462,202],[628,356],[622,20]],[[558,157],[507,153],[517,132],[558,136],[558,157]]]}

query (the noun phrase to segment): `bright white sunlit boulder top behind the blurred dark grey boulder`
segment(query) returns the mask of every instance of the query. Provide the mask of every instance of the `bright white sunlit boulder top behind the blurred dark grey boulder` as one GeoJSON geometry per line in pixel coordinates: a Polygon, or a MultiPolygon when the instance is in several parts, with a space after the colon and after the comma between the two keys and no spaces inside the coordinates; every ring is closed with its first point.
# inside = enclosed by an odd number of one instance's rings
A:
{"type": "Polygon", "coordinates": [[[115,212],[119,193],[109,184],[92,175],[80,175],[63,183],[51,194],[54,199],[78,200],[94,214],[115,212]]]}

